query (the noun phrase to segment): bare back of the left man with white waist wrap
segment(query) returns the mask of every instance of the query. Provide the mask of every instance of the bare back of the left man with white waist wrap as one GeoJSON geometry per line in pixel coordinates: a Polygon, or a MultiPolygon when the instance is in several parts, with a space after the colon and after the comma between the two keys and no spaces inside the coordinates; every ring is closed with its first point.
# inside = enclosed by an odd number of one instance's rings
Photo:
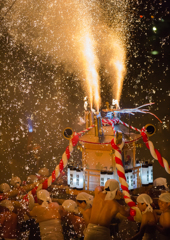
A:
{"type": "Polygon", "coordinates": [[[30,215],[34,217],[38,223],[40,223],[55,218],[61,219],[59,211],[60,207],[58,203],[52,202],[48,204],[48,207],[43,207],[41,205],[34,207],[30,212],[30,215]]]}

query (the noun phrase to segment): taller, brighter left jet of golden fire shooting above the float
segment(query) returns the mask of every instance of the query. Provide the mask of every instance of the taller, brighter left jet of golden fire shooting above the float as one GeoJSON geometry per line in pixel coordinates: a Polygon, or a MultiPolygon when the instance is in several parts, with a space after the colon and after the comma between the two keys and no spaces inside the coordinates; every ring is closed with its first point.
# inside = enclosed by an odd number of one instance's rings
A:
{"type": "Polygon", "coordinates": [[[82,42],[83,63],[85,69],[85,80],[89,92],[90,106],[92,108],[93,101],[97,111],[99,112],[100,106],[100,93],[99,93],[99,74],[98,67],[99,61],[95,55],[95,42],[89,32],[85,32],[82,42]]]}

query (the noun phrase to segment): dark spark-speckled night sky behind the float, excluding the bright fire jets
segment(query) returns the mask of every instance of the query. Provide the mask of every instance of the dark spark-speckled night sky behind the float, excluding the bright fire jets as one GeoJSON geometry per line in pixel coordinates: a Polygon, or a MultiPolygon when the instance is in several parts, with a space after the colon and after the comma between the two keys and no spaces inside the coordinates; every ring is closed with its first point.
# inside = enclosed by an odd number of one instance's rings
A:
{"type": "MultiPolygon", "coordinates": [[[[90,11],[92,19],[96,19],[98,15],[93,12],[96,1],[89,0],[89,6],[92,2],[90,11]]],[[[98,3],[103,22],[113,31],[115,5],[117,10],[122,8],[118,2],[106,0],[98,3]]],[[[125,2],[128,4],[124,14],[121,12],[121,18],[127,19],[127,22],[121,26],[127,28],[127,73],[120,107],[134,108],[148,102],[155,103],[149,107],[150,112],[156,114],[163,124],[152,115],[140,113],[131,116],[130,122],[137,128],[148,123],[155,125],[157,131],[150,140],[170,163],[170,3],[165,0],[125,2]]],[[[17,12],[17,4],[17,1],[7,0],[0,4],[0,183],[7,181],[12,173],[23,180],[25,176],[34,174],[37,158],[39,167],[47,166],[50,171],[54,170],[68,145],[62,135],[65,127],[71,127],[74,131],[84,128],[78,125],[79,117],[84,114],[86,96],[79,70],[70,57],[65,58],[62,50],[63,58],[54,54],[55,46],[51,46],[53,41],[60,41],[60,35],[56,39],[54,36],[47,37],[44,46],[41,34],[49,31],[50,26],[42,30],[40,18],[33,13],[34,19],[30,20],[28,9],[17,12]],[[39,47],[36,48],[37,42],[39,47]]],[[[38,8],[43,11],[43,6],[41,8],[38,4],[39,1],[34,3],[35,13],[38,8]]],[[[59,33],[62,33],[61,30],[59,33]]],[[[68,46],[70,42],[67,41],[68,46]]],[[[64,47],[67,48],[67,44],[64,47]]],[[[66,53],[69,55],[69,47],[66,53]]],[[[113,98],[112,83],[104,64],[100,65],[99,75],[101,108],[104,108],[105,103],[108,101],[111,104],[113,98]]],[[[129,116],[122,116],[122,120],[129,123],[129,116]]],[[[152,159],[144,145],[137,149],[137,158],[152,159]]],[[[73,159],[75,162],[80,159],[78,150],[75,150],[73,159]]],[[[167,177],[170,183],[169,175],[156,160],[154,166],[154,177],[167,177]]]]}

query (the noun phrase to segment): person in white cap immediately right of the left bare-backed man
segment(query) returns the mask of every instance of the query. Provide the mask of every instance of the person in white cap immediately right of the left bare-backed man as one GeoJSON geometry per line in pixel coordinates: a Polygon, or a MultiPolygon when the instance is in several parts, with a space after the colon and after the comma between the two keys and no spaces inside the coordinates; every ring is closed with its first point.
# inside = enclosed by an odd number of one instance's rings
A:
{"type": "Polygon", "coordinates": [[[65,200],[62,204],[64,239],[83,238],[83,231],[86,227],[84,219],[80,216],[77,203],[73,200],[65,200]]]}

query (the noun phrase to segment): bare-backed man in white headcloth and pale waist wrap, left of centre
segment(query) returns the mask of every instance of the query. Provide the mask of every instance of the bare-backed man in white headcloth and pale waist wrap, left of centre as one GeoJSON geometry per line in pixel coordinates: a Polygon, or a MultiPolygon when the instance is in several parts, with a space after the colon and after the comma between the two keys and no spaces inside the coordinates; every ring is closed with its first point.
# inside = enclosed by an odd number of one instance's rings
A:
{"type": "Polygon", "coordinates": [[[37,192],[38,206],[28,212],[28,216],[34,217],[40,226],[42,240],[64,240],[61,225],[61,207],[52,202],[47,190],[37,192]]]}

